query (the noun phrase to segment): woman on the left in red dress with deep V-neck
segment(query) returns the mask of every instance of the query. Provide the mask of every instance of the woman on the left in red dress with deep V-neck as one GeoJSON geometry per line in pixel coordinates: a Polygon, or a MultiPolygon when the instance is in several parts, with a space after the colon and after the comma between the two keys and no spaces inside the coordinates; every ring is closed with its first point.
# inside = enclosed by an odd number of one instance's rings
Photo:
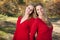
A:
{"type": "Polygon", "coordinates": [[[24,16],[18,17],[13,40],[29,40],[30,28],[34,22],[33,13],[34,5],[30,4],[26,7],[24,16]]]}

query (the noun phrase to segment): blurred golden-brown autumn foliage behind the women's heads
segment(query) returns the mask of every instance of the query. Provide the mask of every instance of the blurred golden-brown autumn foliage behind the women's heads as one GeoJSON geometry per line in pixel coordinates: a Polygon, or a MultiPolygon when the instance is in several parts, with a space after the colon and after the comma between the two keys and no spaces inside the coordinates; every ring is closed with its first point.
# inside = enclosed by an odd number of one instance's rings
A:
{"type": "Polygon", "coordinates": [[[29,3],[41,2],[46,6],[48,15],[56,16],[60,15],[60,2],[54,3],[54,1],[43,1],[43,0],[3,0],[0,1],[0,14],[7,16],[19,16],[25,10],[25,7],[29,3]]]}

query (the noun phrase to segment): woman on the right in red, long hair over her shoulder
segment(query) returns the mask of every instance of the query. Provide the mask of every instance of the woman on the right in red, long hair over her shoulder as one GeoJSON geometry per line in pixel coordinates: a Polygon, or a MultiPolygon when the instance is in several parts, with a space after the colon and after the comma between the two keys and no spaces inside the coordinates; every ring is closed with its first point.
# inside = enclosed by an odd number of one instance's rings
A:
{"type": "Polygon", "coordinates": [[[30,32],[30,40],[34,40],[35,33],[37,32],[36,40],[52,40],[52,24],[44,11],[41,3],[36,5],[37,18],[32,25],[30,32]]]}

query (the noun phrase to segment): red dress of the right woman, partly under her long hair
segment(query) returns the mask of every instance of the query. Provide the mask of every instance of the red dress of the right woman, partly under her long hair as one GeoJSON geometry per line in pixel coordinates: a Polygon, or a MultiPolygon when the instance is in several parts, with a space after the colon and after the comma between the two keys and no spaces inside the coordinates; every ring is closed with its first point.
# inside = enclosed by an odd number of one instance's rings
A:
{"type": "Polygon", "coordinates": [[[45,22],[37,18],[31,28],[30,40],[34,40],[36,31],[36,40],[52,40],[52,30],[53,27],[49,28],[45,22]]]}

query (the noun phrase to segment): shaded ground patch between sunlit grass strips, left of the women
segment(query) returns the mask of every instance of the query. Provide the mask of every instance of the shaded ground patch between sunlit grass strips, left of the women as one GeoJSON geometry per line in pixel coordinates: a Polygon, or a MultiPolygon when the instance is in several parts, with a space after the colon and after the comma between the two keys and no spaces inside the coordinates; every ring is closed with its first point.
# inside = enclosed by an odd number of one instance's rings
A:
{"type": "Polygon", "coordinates": [[[13,34],[15,31],[15,23],[1,21],[0,22],[0,31],[13,34]]]}

